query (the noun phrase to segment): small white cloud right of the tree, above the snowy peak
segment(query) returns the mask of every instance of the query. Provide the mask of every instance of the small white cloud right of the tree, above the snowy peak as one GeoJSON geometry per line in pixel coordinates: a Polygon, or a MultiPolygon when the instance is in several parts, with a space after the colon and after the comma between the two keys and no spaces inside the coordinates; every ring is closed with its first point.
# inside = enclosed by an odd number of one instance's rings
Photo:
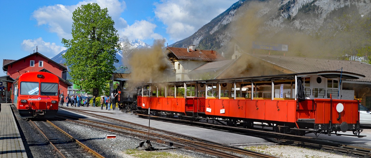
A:
{"type": "Polygon", "coordinates": [[[158,33],[154,33],[156,25],[146,20],[136,20],[134,24],[119,32],[121,36],[127,37],[129,40],[146,40],[146,39],[162,39],[158,33]]]}

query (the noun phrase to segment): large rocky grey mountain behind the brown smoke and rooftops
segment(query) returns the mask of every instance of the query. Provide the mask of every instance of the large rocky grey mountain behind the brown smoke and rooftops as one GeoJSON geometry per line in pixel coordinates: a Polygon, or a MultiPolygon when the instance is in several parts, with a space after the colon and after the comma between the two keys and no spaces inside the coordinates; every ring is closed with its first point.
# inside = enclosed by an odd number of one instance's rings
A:
{"type": "Polygon", "coordinates": [[[259,41],[288,44],[291,55],[332,56],[347,51],[355,55],[355,49],[370,46],[370,12],[370,0],[239,0],[191,36],[169,46],[196,45],[228,54],[233,52],[229,45],[233,39],[243,43],[245,50],[259,41]]]}

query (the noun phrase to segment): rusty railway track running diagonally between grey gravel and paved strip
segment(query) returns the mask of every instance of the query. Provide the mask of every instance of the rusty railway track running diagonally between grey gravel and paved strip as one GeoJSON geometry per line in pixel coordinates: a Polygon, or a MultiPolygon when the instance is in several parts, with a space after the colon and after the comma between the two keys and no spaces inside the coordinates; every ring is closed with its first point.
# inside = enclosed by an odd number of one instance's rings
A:
{"type": "Polygon", "coordinates": [[[100,118],[100,119],[104,119],[109,122],[113,122],[115,124],[119,124],[120,126],[112,125],[112,124],[108,125],[106,123],[90,121],[86,119],[73,118],[70,116],[64,116],[64,117],[78,120],[78,121],[73,121],[73,120],[70,120],[70,121],[76,122],[79,124],[93,126],[95,128],[101,128],[101,129],[105,129],[105,130],[120,133],[120,134],[135,136],[141,139],[149,139],[151,141],[155,141],[158,143],[171,145],[177,148],[184,148],[184,149],[189,149],[192,151],[203,152],[203,153],[214,155],[217,157],[240,158],[240,157],[243,157],[243,155],[246,155],[246,156],[251,156],[251,157],[274,158],[274,156],[271,156],[271,155],[262,154],[262,153],[250,151],[247,149],[232,147],[230,145],[220,144],[217,142],[206,141],[204,139],[185,136],[185,135],[181,135],[181,134],[174,133],[174,132],[164,131],[161,129],[150,128],[150,131],[151,131],[150,132],[148,131],[148,127],[142,126],[139,124],[133,124],[131,122],[126,122],[126,121],[122,121],[122,120],[118,120],[118,119],[114,119],[110,117],[96,115],[93,113],[85,113],[83,111],[79,111],[79,112],[84,113],[85,115],[93,116],[95,118],[100,118]]]}

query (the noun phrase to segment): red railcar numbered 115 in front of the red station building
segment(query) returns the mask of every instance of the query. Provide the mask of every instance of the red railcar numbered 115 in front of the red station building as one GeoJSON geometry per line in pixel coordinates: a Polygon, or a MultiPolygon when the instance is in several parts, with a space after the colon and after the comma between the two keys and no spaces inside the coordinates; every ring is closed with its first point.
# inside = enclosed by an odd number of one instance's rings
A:
{"type": "Polygon", "coordinates": [[[22,118],[52,118],[58,111],[59,78],[48,72],[27,72],[12,84],[12,103],[22,118]]]}

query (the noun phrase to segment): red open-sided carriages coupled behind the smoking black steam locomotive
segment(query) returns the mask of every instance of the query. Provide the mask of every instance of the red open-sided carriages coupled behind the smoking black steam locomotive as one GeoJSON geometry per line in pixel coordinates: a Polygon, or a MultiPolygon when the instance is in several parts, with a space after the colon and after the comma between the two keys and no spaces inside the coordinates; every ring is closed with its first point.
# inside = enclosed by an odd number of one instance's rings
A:
{"type": "Polygon", "coordinates": [[[179,119],[246,128],[270,126],[276,132],[298,135],[353,131],[361,137],[358,101],[342,99],[341,81],[362,77],[326,71],[147,83],[138,93],[137,112],[148,113],[150,108],[154,115],[179,119]]]}

